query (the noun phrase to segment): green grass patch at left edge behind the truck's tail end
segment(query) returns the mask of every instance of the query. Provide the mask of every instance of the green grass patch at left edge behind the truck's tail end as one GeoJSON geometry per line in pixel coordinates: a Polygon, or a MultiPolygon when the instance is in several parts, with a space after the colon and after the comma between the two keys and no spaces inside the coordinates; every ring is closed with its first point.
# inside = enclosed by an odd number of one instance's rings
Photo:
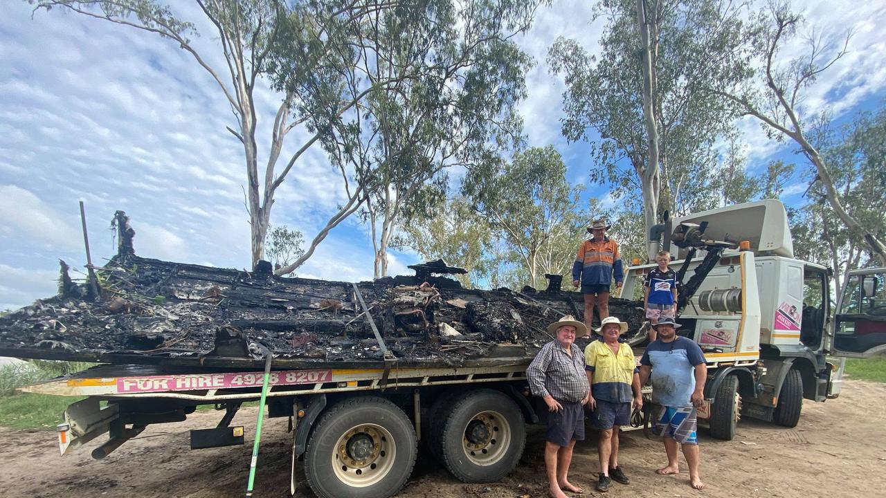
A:
{"type": "Polygon", "coordinates": [[[67,405],[80,397],[17,393],[16,389],[53,377],[86,370],[93,363],[34,360],[0,367],[0,425],[12,429],[52,430],[62,422],[67,405]]]}

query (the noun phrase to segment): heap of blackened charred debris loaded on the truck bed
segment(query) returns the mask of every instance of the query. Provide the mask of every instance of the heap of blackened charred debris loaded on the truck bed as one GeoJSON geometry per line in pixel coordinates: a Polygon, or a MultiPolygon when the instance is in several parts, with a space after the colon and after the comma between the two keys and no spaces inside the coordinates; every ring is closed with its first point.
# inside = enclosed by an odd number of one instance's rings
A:
{"type": "MultiPolygon", "coordinates": [[[[581,316],[578,292],[560,289],[464,289],[443,261],[350,284],[254,271],[159,261],[136,256],[135,230],[114,216],[118,253],[77,284],[60,261],[58,295],[0,318],[0,355],[112,363],[278,365],[381,362],[458,365],[470,359],[518,360],[551,336],[549,323],[581,316]],[[98,295],[90,292],[97,284],[98,295]],[[365,307],[363,306],[365,303],[365,307]],[[374,331],[375,329],[375,331],[374,331]]],[[[612,299],[610,310],[631,331],[641,310],[612,299]]]]}

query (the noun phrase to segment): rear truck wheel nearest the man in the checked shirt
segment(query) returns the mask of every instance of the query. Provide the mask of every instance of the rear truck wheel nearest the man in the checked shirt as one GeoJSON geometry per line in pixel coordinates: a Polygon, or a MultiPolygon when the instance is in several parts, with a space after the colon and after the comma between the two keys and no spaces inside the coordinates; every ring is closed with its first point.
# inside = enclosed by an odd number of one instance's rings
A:
{"type": "Polygon", "coordinates": [[[495,482],[507,476],[523,455],[523,412],[493,389],[462,393],[440,417],[438,440],[443,464],[462,482],[495,482]]]}

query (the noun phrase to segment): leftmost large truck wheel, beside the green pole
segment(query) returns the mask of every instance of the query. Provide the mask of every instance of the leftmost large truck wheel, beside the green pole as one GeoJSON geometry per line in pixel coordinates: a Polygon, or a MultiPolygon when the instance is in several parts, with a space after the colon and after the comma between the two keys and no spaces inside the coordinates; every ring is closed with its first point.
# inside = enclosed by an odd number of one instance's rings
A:
{"type": "Polygon", "coordinates": [[[311,432],[305,477],[321,498],[387,498],[406,483],[417,452],[413,425],[391,401],[341,401],[311,432]]]}

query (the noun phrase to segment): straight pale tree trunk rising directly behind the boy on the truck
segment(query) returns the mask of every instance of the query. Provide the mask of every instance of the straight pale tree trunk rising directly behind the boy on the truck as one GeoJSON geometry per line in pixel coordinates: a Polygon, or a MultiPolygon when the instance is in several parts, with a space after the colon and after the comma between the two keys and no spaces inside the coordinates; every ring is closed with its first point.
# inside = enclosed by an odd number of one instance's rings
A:
{"type": "MultiPolygon", "coordinates": [[[[649,241],[649,230],[657,222],[658,192],[661,177],[658,175],[658,125],[653,104],[653,80],[655,67],[652,66],[652,54],[649,41],[649,24],[646,19],[646,2],[637,0],[637,24],[640,27],[640,40],[642,47],[642,74],[643,74],[643,121],[646,125],[649,154],[647,164],[640,172],[640,181],[643,192],[643,220],[646,233],[644,239],[649,241]]],[[[649,261],[655,259],[657,249],[652,243],[647,244],[649,261]]]]}

